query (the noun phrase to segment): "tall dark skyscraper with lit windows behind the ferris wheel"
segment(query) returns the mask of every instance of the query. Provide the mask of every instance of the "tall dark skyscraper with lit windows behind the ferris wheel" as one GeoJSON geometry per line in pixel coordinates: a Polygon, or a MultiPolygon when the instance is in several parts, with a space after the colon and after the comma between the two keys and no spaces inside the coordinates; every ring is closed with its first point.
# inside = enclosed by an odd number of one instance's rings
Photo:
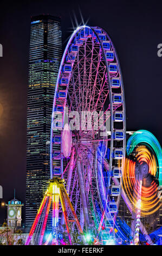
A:
{"type": "Polygon", "coordinates": [[[25,222],[31,227],[50,178],[50,126],[62,55],[60,17],[31,17],[25,222]]]}

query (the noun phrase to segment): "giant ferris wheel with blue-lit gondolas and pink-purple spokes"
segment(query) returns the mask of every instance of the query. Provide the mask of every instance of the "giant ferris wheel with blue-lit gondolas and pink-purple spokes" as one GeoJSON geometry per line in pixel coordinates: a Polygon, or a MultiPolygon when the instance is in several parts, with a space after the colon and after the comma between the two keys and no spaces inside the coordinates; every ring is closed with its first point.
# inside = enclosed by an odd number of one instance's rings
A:
{"type": "Polygon", "coordinates": [[[50,175],[66,180],[69,198],[87,233],[95,227],[109,234],[108,227],[115,223],[125,157],[125,121],[124,87],[115,47],[102,28],[81,26],[68,41],[57,77],[50,175]]]}

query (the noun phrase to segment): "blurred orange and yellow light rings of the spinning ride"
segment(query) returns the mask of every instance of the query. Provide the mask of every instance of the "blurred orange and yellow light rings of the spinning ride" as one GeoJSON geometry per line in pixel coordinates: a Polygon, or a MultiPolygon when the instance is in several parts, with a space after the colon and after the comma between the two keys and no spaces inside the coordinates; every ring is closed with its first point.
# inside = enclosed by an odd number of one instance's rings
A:
{"type": "MultiPolygon", "coordinates": [[[[136,150],[135,158],[139,164],[148,164],[148,173],[155,176],[157,173],[157,162],[153,154],[144,146],[139,146],[136,150]]],[[[130,203],[137,208],[139,181],[135,179],[135,163],[130,159],[125,159],[124,174],[122,176],[122,189],[125,190],[130,203]]],[[[149,187],[141,187],[141,216],[151,215],[160,208],[160,200],[157,196],[158,185],[153,180],[149,187]]]]}

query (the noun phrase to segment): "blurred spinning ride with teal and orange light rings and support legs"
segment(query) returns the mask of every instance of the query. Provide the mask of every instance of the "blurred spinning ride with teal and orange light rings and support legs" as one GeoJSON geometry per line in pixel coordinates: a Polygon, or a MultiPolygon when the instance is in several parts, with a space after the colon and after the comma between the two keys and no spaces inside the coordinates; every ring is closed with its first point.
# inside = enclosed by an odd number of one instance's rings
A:
{"type": "Polygon", "coordinates": [[[138,245],[141,229],[147,241],[152,243],[140,217],[154,214],[161,206],[161,147],[151,132],[139,130],[128,139],[126,153],[122,192],[126,193],[125,202],[132,212],[131,237],[138,245]]]}

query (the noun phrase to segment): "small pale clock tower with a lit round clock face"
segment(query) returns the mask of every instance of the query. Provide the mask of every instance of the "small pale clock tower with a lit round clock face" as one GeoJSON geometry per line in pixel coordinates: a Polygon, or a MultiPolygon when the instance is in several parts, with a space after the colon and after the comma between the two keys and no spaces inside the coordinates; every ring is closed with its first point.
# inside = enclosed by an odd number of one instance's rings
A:
{"type": "Polygon", "coordinates": [[[9,227],[21,227],[22,206],[23,204],[15,196],[8,202],[7,224],[9,227]]]}

